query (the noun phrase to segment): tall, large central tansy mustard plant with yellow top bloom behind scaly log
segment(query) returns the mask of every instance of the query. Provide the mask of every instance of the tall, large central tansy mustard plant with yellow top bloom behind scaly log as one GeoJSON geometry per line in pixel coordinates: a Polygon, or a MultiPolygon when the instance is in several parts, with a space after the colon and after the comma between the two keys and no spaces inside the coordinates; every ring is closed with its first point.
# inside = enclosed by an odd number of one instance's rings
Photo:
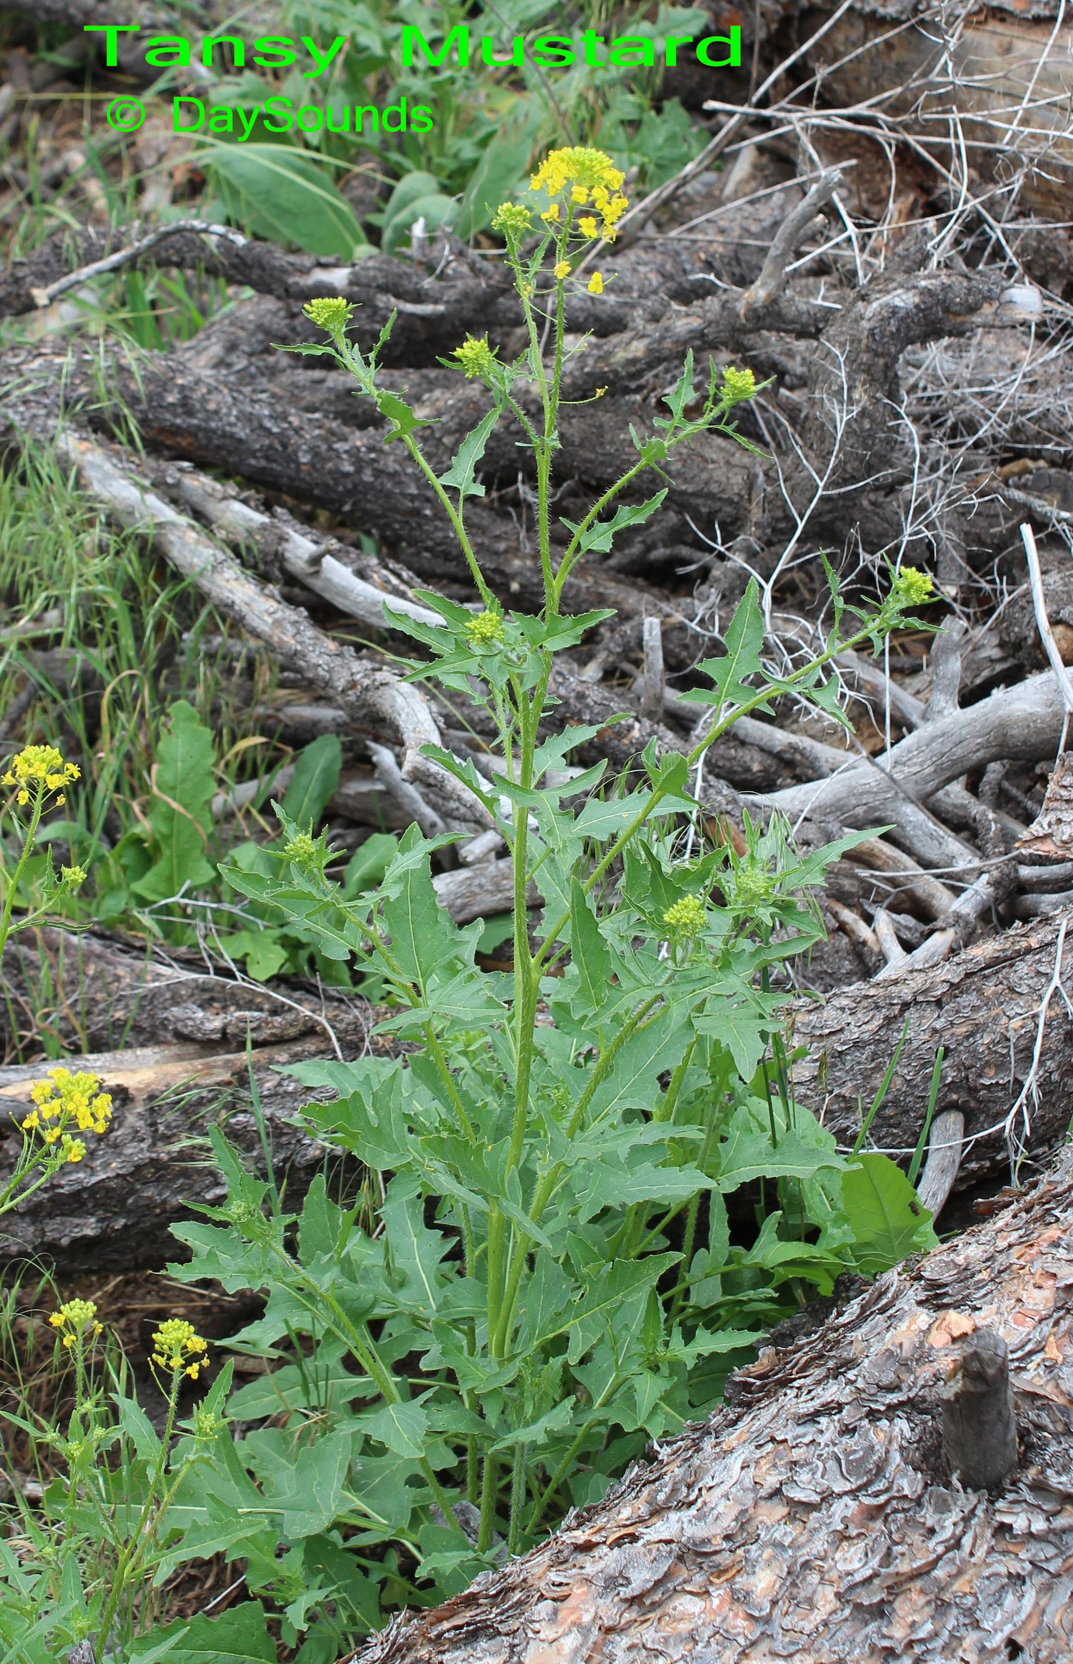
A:
{"type": "MultiPolygon", "coordinates": [[[[579,765],[601,730],[556,722],[552,669],[611,614],[564,614],[571,572],[660,508],[677,446],[712,434],[745,444],[734,418],[759,391],[752,369],[712,363],[697,388],[689,358],[645,429],[630,433],[635,463],[576,521],[554,524],[562,369],[584,351],[567,338],[566,296],[582,285],[601,295],[602,275],[586,281],[579,268],[614,240],[626,206],[614,161],[571,146],[534,171],[524,203],[499,208],[527,344],[506,361],[487,334],[471,336],[444,358],[487,398],[439,473],[423,419],[381,384],[379,344],[366,354],[349,339],[348,305],[308,308],[328,341],[301,351],[333,356],[376,403],[472,576],[476,606],[423,592],[436,622],[394,614],[389,601],[384,617],[426,649],[409,661],[411,679],[436,681],[491,719],[479,765],[439,745],[424,757],[452,777],[454,804],[469,795],[472,824],[506,845],[512,957],[506,972],[484,970],[481,924],[459,929],[439,907],[431,857],[449,835],[411,827],[383,880],[354,894],[328,877],[323,839],[301,845],[278,810],[289,855],[279,875],[236,862],[225,877],[384,990],[379,1027],[396,1035],[396,1055],[296,1068],[308,1087],[338,1093],[304,1105],[309,1132],[371,1170],[383,1201],[369,1220],[318,1180],[299,1218],[283,1213],[278,1191],[213,1128],[226,1203],[201,1210],[211,1225],[173,1226],[191,1258],[171,1271],[200,1281],[226,1268],[228,1286],[269,1291],[241,1346],[273,1364],[289,1348],[293,1363],[274,1378],[278,1394],[258,1383],[233,1399],[236,1416],[273,1423],[236,1446],[238,1461],[268,1489],[283,1484],[279,1453],[301,1441],[309,1471],[339,1474],[338,1518],[359,1531],[376,1609],[388,1566],[389,1599],[428,1602],[491,1564],[497,1534],[507,1553],[527,1548],[599,1496],[649,1438],[707,1414],[730,1359],[805,1285],[828,1290],[838,1271],[875,1265],[857,1191],[843,1190],[852,1161],[794,1103],[779,1038],[785,995],[770,980],[818,940],[813,892],[857,834],[802,855],[775,819],[764,832],[747,825],[739,855],[709,830],[700,765],[742,714],[777,699],[838,717],[835,656],[917,624],[910,609],[928,584],[892,569],[878,607],[857,606],[828,569],[823,649],[780,674],[765,664],[750,584],[725,652],[695,669],[687,697],[705,711],[690,747],[660,750],[652,739],[617,780],[604,762],[579,765]],[[536,476],[537,616],[502,609],[466,529],[497,421],[511,423],[536,476]],[[660,489],[639,501],[650,473],[660,489]],[[792,1150],[780,1150],[784,1138],[792,1150]],[[724,1195],[742,1175],[770,1180],[755,1250],[730,1243],[724,1195]],[[477,1509],[476,1548],[462,1504],[477,1509]],[[403,1558],[418,1571],[399,1592],[403,1558]]],[[[898,1220],[903,1251],[923,1246],[930,1228],[912,1186],[885,1156],[875,1163],[868,1181],[883,1188],[887,1223],[898,1220]]],[[[175,1359],[176,1376],[190,1366],[181,1345],[161,1345],[158,1358],[175,1359]]],[[[304,1526],[283,1528],[271,1499],[258,1514],[250,1484],[245,1529],[253,1539],[256,1516],[265,1564],[291,1554],[298,1564],[304,1526]]],[[[190,1556],[200,1531],[188,1528],[190,1556]]]]}

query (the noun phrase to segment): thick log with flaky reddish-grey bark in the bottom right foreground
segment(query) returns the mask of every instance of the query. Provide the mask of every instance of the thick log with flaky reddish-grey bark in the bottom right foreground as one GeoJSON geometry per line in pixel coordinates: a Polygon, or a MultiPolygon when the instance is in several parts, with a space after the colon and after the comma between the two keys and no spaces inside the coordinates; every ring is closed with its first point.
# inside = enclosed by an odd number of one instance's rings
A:
{"type": "Polygon", "coordinates": [[[393,1624],[351,1664],[1065,1664],[1071,1233],[1065,1153],[985,1225],[885,1273],[797,1345],[764,1351],[729,1379],[707,1426],[632,1468],[542,1548],[393,1624]],[[952,1473],[965,1454],[953,1438],[945,1446],[943,1426],[955,1431],[945,1411],[972,1393],[973,1369],[1008,1391],[1003,1351],[1020,1464],[988,1493],[952,1473]]]}

